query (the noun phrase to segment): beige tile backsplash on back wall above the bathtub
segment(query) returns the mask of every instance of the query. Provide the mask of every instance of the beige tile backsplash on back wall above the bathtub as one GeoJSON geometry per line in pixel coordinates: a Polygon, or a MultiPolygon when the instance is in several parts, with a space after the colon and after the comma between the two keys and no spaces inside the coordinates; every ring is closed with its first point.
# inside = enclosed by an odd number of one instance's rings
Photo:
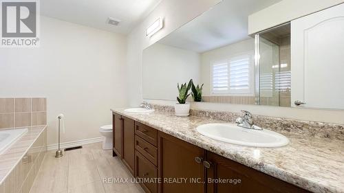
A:
{"type": "Polygon", "coordinates": [[[45,124],[46,98],[0,98],[0,129],[45,124]]]}

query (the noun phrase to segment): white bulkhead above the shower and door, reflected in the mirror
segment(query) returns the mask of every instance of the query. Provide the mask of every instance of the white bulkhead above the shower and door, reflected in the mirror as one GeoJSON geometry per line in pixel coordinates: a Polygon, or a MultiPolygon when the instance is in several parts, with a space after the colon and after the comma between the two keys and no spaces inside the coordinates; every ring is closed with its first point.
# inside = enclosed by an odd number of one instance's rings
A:
{"type": "Polygon", "coordinates": [[[248,34],[292,21],[301,16],[330,8],[344,0],[283,0],[248,16],[248,34]]]}

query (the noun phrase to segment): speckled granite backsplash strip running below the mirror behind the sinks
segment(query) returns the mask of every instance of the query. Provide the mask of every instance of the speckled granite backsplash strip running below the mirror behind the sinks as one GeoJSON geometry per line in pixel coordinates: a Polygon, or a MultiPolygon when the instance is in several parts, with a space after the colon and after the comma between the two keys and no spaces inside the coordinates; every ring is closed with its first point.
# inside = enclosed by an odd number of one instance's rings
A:
{"type": "MultiPolygon", "coordinates": [[[[152,106],[158,111],[174,112],[173,106],[163,106],[158,104],[152,104],[152,106]]],[[[233,123],[237,117],[239,117],[240,113],[191,109],[190,115],[208,117],[212,120],[222,120],[233,123]]],[[[292,133],[297,135],[307,135],[310,137],[326,137],[330,139],[344,140],[344,125],[340,124],[290,120],[263,115],[254,115],[253,120],[257,126],[275,130],[279,133],[292,133]]]]}

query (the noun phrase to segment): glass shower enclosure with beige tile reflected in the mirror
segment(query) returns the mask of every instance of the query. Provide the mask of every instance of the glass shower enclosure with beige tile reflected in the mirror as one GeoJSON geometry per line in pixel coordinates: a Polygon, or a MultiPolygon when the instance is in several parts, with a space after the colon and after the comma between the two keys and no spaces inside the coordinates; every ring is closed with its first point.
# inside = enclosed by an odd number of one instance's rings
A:
{"type": "Polygon", "coordinates": [[[290,106],[290,25],[256,36],[259,43],[259,101],[272,106],[290,106]]]}

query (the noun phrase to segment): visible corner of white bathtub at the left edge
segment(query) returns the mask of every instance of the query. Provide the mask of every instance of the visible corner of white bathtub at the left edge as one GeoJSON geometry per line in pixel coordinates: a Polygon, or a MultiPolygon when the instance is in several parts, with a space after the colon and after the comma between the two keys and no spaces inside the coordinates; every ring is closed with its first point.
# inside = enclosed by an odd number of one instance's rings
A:
{"type": "Polygon", "coordinates": [[[28,128],[0,130],[0,155],[27,132],[28,128]]]}

